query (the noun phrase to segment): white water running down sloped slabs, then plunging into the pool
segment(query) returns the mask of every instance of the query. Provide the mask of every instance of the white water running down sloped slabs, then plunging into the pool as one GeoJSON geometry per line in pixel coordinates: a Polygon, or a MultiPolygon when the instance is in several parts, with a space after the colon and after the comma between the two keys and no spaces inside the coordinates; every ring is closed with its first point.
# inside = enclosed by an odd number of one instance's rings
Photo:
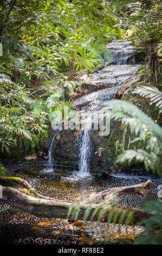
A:
{"type": "MultiPolygon", "coordinates": [[[[98,113],[102,108],[102,103],[112,100],[122,84],[129,81],[140,68],[139,65],[134,64],[135,48],[132,46],[132,42],[113,40],[107,45],[107,49],[112,53],[113,63],[110,64],[106,60],[103,69],[89,76],[84,74],[81,78],[87,83],[87,88],[90,84],[94,86],[98,84],[98,89],[96,89],[96,92],[89,92],[73,101],[73,104],[85,113],[98,113]]],[[[85,124],[85,130],[82,132],[79,148],[79,176],[81,177],[89,175],[89,137],[91,133],[91,127],[89,128],[87,119],[84,120],[83,124],[85,124]]]]}

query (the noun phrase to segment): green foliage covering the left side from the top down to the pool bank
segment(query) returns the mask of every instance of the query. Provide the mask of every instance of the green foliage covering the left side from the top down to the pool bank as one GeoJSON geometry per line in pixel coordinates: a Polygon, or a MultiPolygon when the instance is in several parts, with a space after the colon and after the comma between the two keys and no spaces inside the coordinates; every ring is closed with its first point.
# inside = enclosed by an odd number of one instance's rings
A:
{"type": "Polygon", "coordinates": [[[61,101],[64,88],[71,94],[75,88],[70,69],[92,71],[120,29],[113,28],[116,20],[103,1],[1,1],[0,17],[1,150],[9,151],[18,138],[34,150],[47,137],[55,111],[72,111],[61,101]],[[33,91],[35,79],[41,82],[33,91]]]}

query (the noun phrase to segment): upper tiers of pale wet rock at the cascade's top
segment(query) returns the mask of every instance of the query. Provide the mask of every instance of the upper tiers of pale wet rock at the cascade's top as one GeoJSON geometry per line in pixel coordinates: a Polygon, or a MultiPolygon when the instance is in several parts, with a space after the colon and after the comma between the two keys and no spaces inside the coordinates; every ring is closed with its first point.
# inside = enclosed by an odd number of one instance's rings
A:
{"type": "Polygon", "coordinates": [[[80,76],[81,87],[76,89],[76,94],[73,98],[96,92],[100,89],[121,86],[137,73],[140,65],[134,64],[136,50],[131,41],[113,40],[107,45],[107,48],[112,53],[114,61],[109,63],[106,60],[102,69],[89,76],[87,74],[80,76]],[[83,85],[86,86],[86,91],[83,85]]]}

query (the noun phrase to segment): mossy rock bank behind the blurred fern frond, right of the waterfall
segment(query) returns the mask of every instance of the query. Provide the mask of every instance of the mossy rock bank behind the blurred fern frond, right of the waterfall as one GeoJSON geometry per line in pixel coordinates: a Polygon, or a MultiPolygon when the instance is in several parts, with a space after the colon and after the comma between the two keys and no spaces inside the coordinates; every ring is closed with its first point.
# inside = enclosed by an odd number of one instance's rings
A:
{"type": "MultiPolygon", "coordinates": [[[[139,87],[142,85],[142,81],[138,82],[136,84],[133,84],[130,88],[126,90],[126,92],[122,95],[121,100],[127,101],[131,104],[134,104],[138,108],[141,109],[142,112],[147,114],[149,117],[151,117],[153,120],[157,120],[157,123],[161,125],[162,119],[161,117],[159,118],[158,111],[155,110],[154,105],[149,105],[147,100],[144,97],[140,97],[137,94],[132,94],[133,90],[136,87],[139,87]]],[[[135,138],[135,134],[131,133],[129,130],[129,127],[127,127],[127,130],[125,132],[125,127],[121,124],[121,121],[118,121],[113,130],[111,131],[111,135],[109,136],[108,139],[108,150],[107,150],[107,159],[112,159],[112,162],[115,160],[116,156],[121,154],[123,150],[127,149],[138,149],[142,148],[145,149],[146,147],[146,142],[135,142],[135,143],[130,143],[133,138],[135,138]],[[115,147],[115,143],[118,141],[119,145],[118,148],[115,147]]],[[[131,162],[131,165],[138,164],[136,160],[133,160],[131,162]]],[[[121,167],[125,167],[125,164],[121,164],[121,167]]]]}

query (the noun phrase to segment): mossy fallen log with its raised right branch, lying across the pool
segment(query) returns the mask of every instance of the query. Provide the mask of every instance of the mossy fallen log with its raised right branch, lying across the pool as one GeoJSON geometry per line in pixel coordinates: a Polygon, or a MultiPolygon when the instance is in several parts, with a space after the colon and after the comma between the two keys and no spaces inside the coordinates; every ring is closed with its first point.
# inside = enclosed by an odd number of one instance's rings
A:
{"type": "MultiPolygon", "coordinates": [[[[15,177],[12,177],[14,179],[15,177]]],[[[20,184],[18,183],[18,179],[16,178],[16,181],[13,183],[10,179],[10,177],[3,177],[0,178],[1,184],[5,185],[12,185],[11,186],[2,186],[3,189],[3,197],[0,198],[1,202],[7,203],[11,206],[14,206],[17,209],[20,209],[22,211],[28,212],[31,215],[39,216],[39,217],[48,217],[48,218],[67,218],[69,207],[72,205],[72,202],[67,200],[58,200],[53,199],[49,197],[44,197],[40,193],[36,192],[34,188],[32,188],[27,181],[23,182],[22,179],[20,179],[20,184]],[[15,188],[15,183],[17,184],[15,188]],[[14,184],[14,185],[13,185],[14,184]]],[[[81,206],[79,215],[77,217],[77,220],[83,220],[85,210],[90,205],[91,210],[89,212],[89,217],[87,220],[90,220],[90,217],[93,214],[94,209],[99,205],[100,202],[104,202],[104,199],[108,195],[108,193],[116,193],[118,196],[128,193],[138,193],[139,196],[142,198],[146,197],[146,194],[150,192],[149,187],[151,187],[151,180],[146,181],[145,183],[127,186],[127,187],[119,187],[119,188],[108,188],[106,191],[102,191],[98,194],[96,194],[95,200],[97,200],[97,203],[95,204],[89,204],[90,200],[86,202],[85,205],[81,206]],[[140,191],[141,190],[141,191],[140,191]]],[[[116,223],[118,223],[119,218],[124,212],[125,208],[118,209],[119,216],[116,220],[116,223]]],[[[102,216],[101,222],[107,222],[108,214],[110,210],[107,210],[107,212],[102,216]]],[[[141,220],[144,220],[148,217],[151,217],[152,215],[148,212],[142,212],[139,209],[131,209],[133,211],[133,224],[137,224],[141,220]]],[[[114,212],[115,213],[115,212],[114,212]]],[[[93,221],[98,221],[98,216],[95,215],[93,218],[93,221]]]]}

